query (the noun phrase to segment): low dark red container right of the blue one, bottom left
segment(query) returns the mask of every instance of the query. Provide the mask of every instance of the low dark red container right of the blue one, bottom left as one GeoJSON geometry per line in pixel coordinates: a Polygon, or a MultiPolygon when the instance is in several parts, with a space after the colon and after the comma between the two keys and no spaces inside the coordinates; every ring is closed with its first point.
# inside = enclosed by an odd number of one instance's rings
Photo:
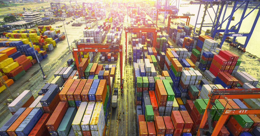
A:
{"type": "Polygon", "coordinates": [[[44,113],[40,118],[40,120],[36,123],[34,128],[31,130],[28,136],[41,136],[44,133],[44,131],[47,129],[45,124],[47,123],[49,118],[50,118],[50,114],[44,113]]]}

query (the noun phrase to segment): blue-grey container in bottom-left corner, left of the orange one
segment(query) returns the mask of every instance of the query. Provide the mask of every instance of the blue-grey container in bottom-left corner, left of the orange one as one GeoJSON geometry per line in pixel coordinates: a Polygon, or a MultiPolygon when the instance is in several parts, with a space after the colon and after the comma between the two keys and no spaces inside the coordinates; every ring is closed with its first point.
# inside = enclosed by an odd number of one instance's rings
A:
{"type": "Polygon", "coordinates": [[[15,122],[15,120],[23,113],[26,108],[20,108],[18,111],[6,121],[6,123],[0,128],[0,135],[9,136],[5,131],[15,122]]]}

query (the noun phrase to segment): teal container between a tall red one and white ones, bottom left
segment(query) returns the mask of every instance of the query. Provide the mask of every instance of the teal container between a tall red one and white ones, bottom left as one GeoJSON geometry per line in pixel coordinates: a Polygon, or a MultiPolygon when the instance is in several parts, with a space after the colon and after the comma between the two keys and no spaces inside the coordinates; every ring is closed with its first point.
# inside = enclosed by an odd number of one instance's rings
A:
{"type": "Polygon", "coordinates": [[[66,114],[64,115],[60,126],[57,129],[57,133],[59,136],[67,136],[69,134],[71,124],[76,116],[77,110],[76,108],[70,107],[68,108],[66,114]]]}

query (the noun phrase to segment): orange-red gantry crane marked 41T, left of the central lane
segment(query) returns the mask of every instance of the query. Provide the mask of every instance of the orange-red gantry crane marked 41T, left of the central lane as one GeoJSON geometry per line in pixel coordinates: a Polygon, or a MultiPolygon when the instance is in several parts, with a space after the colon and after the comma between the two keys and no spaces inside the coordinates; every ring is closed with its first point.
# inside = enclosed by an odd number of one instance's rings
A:
{"type": "Polygon", "coordinates": [[[77,66],[77,70],[79,71],[79,61],[81,62],[81,55],[80,60],[78,59],[78,52],[119,52],[120,56],[120,83],[123,86],[122,82],[122,75],[123,75],[123,54],[122,54],[122,45],[112,45],[109,43],[79,43],[77,48],[73,48],[73,55],[75,57],[75,62],[77,66]]]}

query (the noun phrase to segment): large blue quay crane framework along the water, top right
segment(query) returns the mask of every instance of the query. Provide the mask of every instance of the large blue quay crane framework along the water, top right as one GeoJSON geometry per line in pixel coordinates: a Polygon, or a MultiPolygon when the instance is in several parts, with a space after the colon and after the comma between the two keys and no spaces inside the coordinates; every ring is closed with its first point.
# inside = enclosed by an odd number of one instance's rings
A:
{"type": "MultiPolygon", "coordinates": [[[[238,0],[229,0],[229,1],[228,0],[218,0],[218,1],[214,1],[214,0],[201,0],[201,1],[196,1],[196,2],[190,2],[188,4],[199,4],[200,5],[199,6],[198,15],[197,15],[197,19],[196,19],[195,26],[194,26],[195,29],[193,30],[193,33],[195,35],[200,35],[202,27],[210,27],[211,28],[208,31],[209,35],[211,37],[215,37],[215,36],[218,37],[218,35],[220,33],[223,33],[222,40],[221,40],[221,42],[219,44],[220,48],[222,47],[222,44],[224,43],[224,41],[225,41],[225,39],[227,37],[233,37],[232,42],[233,43],[237,43],[236,42],[236,37],[237,36],[245,36],[246,37],[245,43],[244,44],[240,44],[242,47],[245,48],[247,46],[249,40],[250,40],[250,37],[252,36],[252,33],[254,31],[254,28],[256,26],[257,20],[258,20],[259,15],[260,15],[260,10],[258,9],[258,13],[255,16],[255,20],[254,20],[254,22],[252,24],[250,32],[249,33],[244,33],[244,32],[239,32],[241,24],[242,24],[243,20],[250,13],[252,13],[255,9],[259,8],[259,6],[260,6],[260,2],[259,1],[256,1],[256,0],[244,0],[244,1],[238,1],[238,0]],[[253,6],[254,7],[253,9],[250,9],[251,11],[248,14],[245,14],[246,10],[249,9],[248,8],[249,4],[255,4],[255,6],[253,6]],[[204,5],[205,10],[204,10],[204,14],[203,14],[203,17],[202,17],[202,22],[198,23],[198,16],[199,16],[199,12],[200,12],[200,9],[201,9],[202,5],[204,5]],[[214,8],[213,5],[217,5],[217,8],[214,8]],[[228,14],[226,12],[228,5],[232,6],[232,11],[230,12],[228,17],[225,17],[225,16],[227,16],[226,14],[228,14]],[[242,6],[244,6],[244,8],[243,8],[240,20],[238,20],[238,23],[236,25],[233,25],[232,27],[230,27],[230,22],[232,20],[234,20],[233,15],[234,15],[235,11],[237,9],[239,9],[240,7],[242,7],[242,6]],[[225,7],[225,9],[224,9],[224,7],[225,7]],[[209,11],[208,11],[209,8],[213,9],[213,11],[215,13],[215,14],[213,14],[213,16],[211,16],[209,14],[209,11]],[[224,9],[224,12],[223,12],[223,9],[224,9]],[[212,23],[204,23],[206,13],[209,14],[212,23]],[[221,22],[220,22],[220,18],[222,18],[221,22]],[[225,21],[227,21],[227,25],[223,26],[223,23],[225,21]],[[197,25],[200,25],[199,30],[196,30],[196,26],[197,25]]],[[[187,4],[180,4],[180,6],[185,6],[185,5],[187,5],[187,4]]]]}

